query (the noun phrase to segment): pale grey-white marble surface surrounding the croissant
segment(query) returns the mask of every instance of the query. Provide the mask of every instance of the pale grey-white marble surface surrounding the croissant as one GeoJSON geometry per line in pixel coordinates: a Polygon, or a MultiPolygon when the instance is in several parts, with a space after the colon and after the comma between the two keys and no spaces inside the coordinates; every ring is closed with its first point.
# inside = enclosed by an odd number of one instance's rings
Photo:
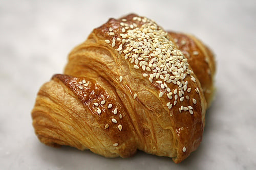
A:
{"type": "Polygon", "coordinates": [[[0,169],[254,169],[255,1],[1,1],[0,169]],[[215,52],[216,100],[203,141],[180,164],[138,152],[107,159],[41,144],[30,112],[37,90],[60,73],[71,49],[110,17],[134,12],[193,33],[215,52]]]}

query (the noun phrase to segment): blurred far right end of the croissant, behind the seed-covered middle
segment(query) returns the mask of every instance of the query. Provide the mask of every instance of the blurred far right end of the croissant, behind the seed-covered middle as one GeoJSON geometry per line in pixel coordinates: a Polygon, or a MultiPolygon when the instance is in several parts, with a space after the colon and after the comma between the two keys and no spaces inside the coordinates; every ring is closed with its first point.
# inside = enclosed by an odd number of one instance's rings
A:
{"type": "Polygon", "coordinates": [[[205,44],[193,35],[177,32],[168,33],[174,38],[175,43],[188,59],[188,63],[195,75],[197,75],[203,88],[208,108],[215,92],[214,77],[216,65],[214,55],[205,44]]]}

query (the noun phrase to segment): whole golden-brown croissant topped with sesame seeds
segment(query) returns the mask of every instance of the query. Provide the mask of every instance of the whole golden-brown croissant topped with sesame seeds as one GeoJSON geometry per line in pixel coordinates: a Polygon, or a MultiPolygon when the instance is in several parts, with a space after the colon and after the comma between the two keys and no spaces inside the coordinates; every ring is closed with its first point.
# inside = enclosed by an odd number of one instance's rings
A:
{"type": "Polygon", "coordinates": [[[179,163],[202,140],[214,75],[214,55],[194,36],[136,14],[111,18],[40,87],[33,127],[51,147],[122,158],[141,150],[179,163]]]}

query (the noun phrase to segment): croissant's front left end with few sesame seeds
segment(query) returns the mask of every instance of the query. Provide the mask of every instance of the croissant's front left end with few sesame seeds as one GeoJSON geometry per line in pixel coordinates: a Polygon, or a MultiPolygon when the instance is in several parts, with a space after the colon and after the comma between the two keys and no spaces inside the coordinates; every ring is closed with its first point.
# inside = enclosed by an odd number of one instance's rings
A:
{"type": "Polygon", "coordinates": [[[136,143],[133,142],[135,135],[129,124],[129,115],[125,114],[121,102],[111,97],[115,96],[111,95],[114,91],[108,89],[106,92],[104,87],[108,86],[101,85],[88,78],[53,76],[52,81],[41,87],[32,111],[33,125],[39,139],[48,145],[71,145],[80,150],[89,148],[95,153],[100,151],[98,154],[106,157],[133,155],[136,152],[136,143]],[[47,104],[49,109],[40,107],[41,104],[47,104]],[[110,104],[112,107],[109,107],[110,104]],[[113,123],[112,118],[117,123],[113,123]],[[51,124],[45,125],[50,122],[51,124]],[[122,128],[118,128],[119,125],[122,128]],[[47,134],[47,131],[61,132],[62,135],[47,134]],[[104,137],[104,140],[100,137],[104,137]],[[119,147],[114,147],[114,143],[118,143],[119,147]],[[108,148],[113,151],[109,152],[108,148]]]}

